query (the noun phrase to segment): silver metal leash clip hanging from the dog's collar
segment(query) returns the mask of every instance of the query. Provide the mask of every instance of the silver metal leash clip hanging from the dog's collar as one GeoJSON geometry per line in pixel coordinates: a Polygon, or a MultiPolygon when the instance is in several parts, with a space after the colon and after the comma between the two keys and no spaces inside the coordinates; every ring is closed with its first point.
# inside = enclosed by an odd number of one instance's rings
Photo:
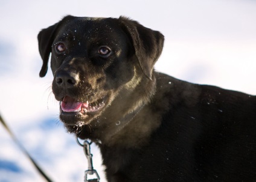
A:
{"type": "Polygon", "coordinates": [[[88,160],[88,170],[85,171],[85,179],[84,182],[98,182],[100,181],[100,176],[98,175],[98,172],[94,169],[92,166],[92,154],[91,154],[91,147],[90,145],[92,142],[84,141],[83,144],[80,143],[80,141],[77,138],[77,144],[83,147],[83,151],[85,153],[85,156],[88,160]],[[88,175],[96,175],[97,178],[88,180],[88,175]]]}

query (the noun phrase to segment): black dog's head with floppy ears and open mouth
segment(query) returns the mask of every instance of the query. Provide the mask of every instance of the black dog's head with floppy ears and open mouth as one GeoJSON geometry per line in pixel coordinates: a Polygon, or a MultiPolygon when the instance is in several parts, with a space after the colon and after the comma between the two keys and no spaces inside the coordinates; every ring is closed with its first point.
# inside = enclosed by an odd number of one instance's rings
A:
{"type": "Polygon", "coordinates": [[[53,93],[69,130],[125,115],[153,92],[138,87],[153,82],[153,65],[164,43],[158,31],[126,17],[66,16],[40,31],[38,40],[39,75],[45,76],[51,53],[53,93]]]}

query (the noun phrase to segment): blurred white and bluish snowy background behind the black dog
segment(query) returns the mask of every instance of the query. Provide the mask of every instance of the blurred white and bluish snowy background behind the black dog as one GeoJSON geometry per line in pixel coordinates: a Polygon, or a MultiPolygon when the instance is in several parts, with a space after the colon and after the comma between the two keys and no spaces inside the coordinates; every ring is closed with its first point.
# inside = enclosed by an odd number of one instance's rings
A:
{"type": "MultiPolygon", "coordinates": [[[[127,16],[165,36],[155,69],[188,82],[256,94],[256,1],[0,0],[0,114],[54,181],[83,181],[83,148],[59,121],[53,75],[39,77],[40,29],[63,16],[127,16]]],[[[100,152],[94,167],[104,179],[100,152]]],[[[0,126],[0,182],[43,181],[0,126]]]]}

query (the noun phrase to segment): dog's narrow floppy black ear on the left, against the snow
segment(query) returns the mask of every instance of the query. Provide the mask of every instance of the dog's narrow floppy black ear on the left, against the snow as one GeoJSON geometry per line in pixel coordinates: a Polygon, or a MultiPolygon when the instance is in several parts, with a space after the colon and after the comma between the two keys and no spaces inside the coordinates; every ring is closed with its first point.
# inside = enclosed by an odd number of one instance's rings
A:
{"type": "Polygon", "coordinates": [[[43,65],[40,70],[39,76],[43,77],[48,70],[48,60],[51,53],[51,45],[54,41],[54,34],[59,23],[56,23],[48,28],[42,29],[37,35],[40,56],[43,59],[43,65]]]}

